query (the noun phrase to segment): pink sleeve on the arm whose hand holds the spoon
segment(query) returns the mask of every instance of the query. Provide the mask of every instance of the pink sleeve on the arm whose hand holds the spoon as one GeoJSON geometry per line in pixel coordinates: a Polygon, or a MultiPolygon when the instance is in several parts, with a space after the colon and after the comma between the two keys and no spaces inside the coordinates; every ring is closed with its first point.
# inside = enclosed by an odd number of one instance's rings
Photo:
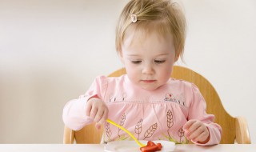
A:
{"type": "Polygon", "coordinates": [[[78,99],[67,102],[63,109],[62,119],[66,126],[72,130],[81,130],[82,127],[89,125],[93,119],[86,116],[86,102],[97,96],[102,98],[106,88],[106,77],[97,77],[90,86],[86,94],[80,96],[78,99]]]}

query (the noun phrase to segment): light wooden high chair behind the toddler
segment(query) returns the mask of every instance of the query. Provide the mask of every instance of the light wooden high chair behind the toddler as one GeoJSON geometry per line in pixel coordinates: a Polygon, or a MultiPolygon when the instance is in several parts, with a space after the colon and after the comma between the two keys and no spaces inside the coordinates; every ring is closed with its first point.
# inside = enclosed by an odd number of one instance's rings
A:
{"type": "MultiPolygon", "coordinates": [[[[126,74],[125,69],[116,70],[109,77],[118,77],[122,74],[126,74]]],[[[214,87],[206,78],[182,66],[174,66],[171,77],[186,80],[198,86],[206,100],[207,114],[214,114],[215,122],[222,126],[222,144],[233,144],[235,142],[241,144],[250,143],[246,119],[243,117],[232,117],[226,112],[216,90],[214,90],[214,87]]],[[[99,143],[102,137],[102,130],[97,130],[94,124],[85,126],[82,130],[78,131],[70,130],[65,126],[63,142],[74,143],[75,140],[76,143],[99,143]]]]}

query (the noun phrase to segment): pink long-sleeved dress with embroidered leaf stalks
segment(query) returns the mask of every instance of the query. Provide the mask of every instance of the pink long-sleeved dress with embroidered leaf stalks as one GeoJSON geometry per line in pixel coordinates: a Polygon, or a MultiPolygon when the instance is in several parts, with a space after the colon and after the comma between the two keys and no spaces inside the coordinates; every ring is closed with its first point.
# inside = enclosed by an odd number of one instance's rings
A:
{"type": "MultiPolygon", "coordinates": [[[[214,123],[214,115],[206,114],[206,102],[197,86],[190,82],[170,78],[166,85],[148,91],[135,86],[127,75],[95,78],[85,95],[66,103],[63,110],[66,126],[80,130],[93,121],[86,116],[85,109],[88,98],[95,95],[109,108],[108,118],[118,122],[139,140],[188,143],[182,127],[190,119],[206,123],[210,141],[203,145],[218,144],[221,140],[221,126],[214,123]]],[[[109,142],[131,138],[106,122],[102,140],[109,142]]]]}

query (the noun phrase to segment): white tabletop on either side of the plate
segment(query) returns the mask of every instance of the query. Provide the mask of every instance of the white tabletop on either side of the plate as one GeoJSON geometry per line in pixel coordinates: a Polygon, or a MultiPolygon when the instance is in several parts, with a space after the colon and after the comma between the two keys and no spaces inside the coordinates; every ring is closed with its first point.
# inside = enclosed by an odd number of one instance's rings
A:
{"type": "MultiPolygon", "coordinates": [[[[104,151],[103,144],[0,144],[1,152],[90,152],[104,151]]],[[[196,146],[194,144],[176,145],[176,152],[214,152],[214,151],[232,151],[232,152],[255,152],[256,144],[220,144],[216,146],[196,146]]]]}

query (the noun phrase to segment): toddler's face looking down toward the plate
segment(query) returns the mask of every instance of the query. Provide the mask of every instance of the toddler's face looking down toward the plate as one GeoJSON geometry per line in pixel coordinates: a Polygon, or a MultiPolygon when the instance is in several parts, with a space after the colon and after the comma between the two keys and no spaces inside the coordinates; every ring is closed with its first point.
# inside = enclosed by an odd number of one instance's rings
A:
{"type": "Polygon", "coordinates": [[[166,84],[176,62],[173,38],[156,32],[135,37],[128,34],[121,58],[131,82],[145,90],[155,90],[166,84]]]}

